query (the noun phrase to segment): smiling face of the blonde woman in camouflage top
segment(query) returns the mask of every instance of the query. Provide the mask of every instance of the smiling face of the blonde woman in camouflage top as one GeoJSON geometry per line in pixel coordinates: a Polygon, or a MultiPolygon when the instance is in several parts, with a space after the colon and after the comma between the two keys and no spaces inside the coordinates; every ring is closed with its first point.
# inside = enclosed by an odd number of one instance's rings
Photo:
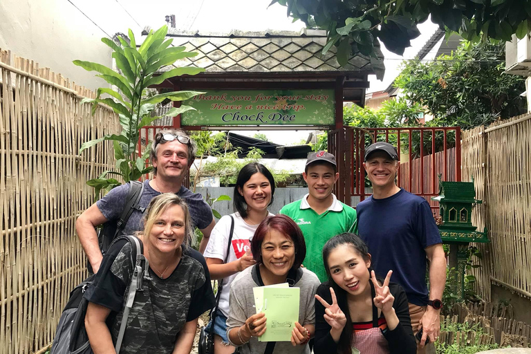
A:
{"type": "Polygon", "coordinates": [[[171,205],[156,216],[149,230],[149,245],[159,252],[175,252],[185,239],[185,213],[180,205],[171,205]]]}

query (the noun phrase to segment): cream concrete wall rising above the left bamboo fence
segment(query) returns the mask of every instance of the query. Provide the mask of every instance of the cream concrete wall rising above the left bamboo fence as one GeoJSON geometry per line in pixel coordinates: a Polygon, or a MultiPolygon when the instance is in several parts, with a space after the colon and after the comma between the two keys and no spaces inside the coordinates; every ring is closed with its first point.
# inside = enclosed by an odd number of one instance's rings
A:
{"type": "Polygon", "coordinates": [[[93,90],[109,84],[72,61],[111,67],[111,48],[102,43],[102,37],[104,32],[66,0],[0,1],[0,48],[93,90]]]}

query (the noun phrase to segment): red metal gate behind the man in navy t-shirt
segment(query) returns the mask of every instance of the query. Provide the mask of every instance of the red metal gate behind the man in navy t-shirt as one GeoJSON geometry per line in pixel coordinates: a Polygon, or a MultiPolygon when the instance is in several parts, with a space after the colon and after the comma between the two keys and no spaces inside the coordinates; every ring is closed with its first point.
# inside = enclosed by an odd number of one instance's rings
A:
{"type": "Polygon", "coordinates": [[[328,151],[336,156],[339,171],[337,198],[355,207],[372,194],[362,163],[365,147],[385,141],[399,151],[398,187],[426,198],[437,214],[438,205],[431,197],[438,195],[438,176],[461,180],[460,133],[459,127],[343,127],[330,131],[328,151]]]}

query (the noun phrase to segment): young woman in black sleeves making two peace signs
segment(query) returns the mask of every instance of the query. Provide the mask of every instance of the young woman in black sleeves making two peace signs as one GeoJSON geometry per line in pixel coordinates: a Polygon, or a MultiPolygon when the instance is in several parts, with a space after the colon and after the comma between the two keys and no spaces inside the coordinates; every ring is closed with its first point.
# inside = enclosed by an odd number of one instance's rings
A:
{"type": "Polygon", "coordinates": [[[415,354],[406,293],[389,282],[391,270],[383,282],[376,279],[362,239],[334,236],[323,261],[328,281],[315,295],[314,353],[415,354]]]}

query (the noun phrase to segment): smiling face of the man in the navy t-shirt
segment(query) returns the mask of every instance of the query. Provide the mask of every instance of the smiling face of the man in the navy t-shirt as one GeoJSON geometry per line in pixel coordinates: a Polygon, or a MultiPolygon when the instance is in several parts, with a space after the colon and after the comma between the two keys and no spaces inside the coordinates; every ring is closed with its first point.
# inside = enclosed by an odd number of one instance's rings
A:
{"type": "Polygon", "coordinates": [[[373,187],[386,188],[393,187],[395,184],[398,161],[391,159],[391,156],[386,152],[375,151],[371,153],[363,165],[373,187]]]}

